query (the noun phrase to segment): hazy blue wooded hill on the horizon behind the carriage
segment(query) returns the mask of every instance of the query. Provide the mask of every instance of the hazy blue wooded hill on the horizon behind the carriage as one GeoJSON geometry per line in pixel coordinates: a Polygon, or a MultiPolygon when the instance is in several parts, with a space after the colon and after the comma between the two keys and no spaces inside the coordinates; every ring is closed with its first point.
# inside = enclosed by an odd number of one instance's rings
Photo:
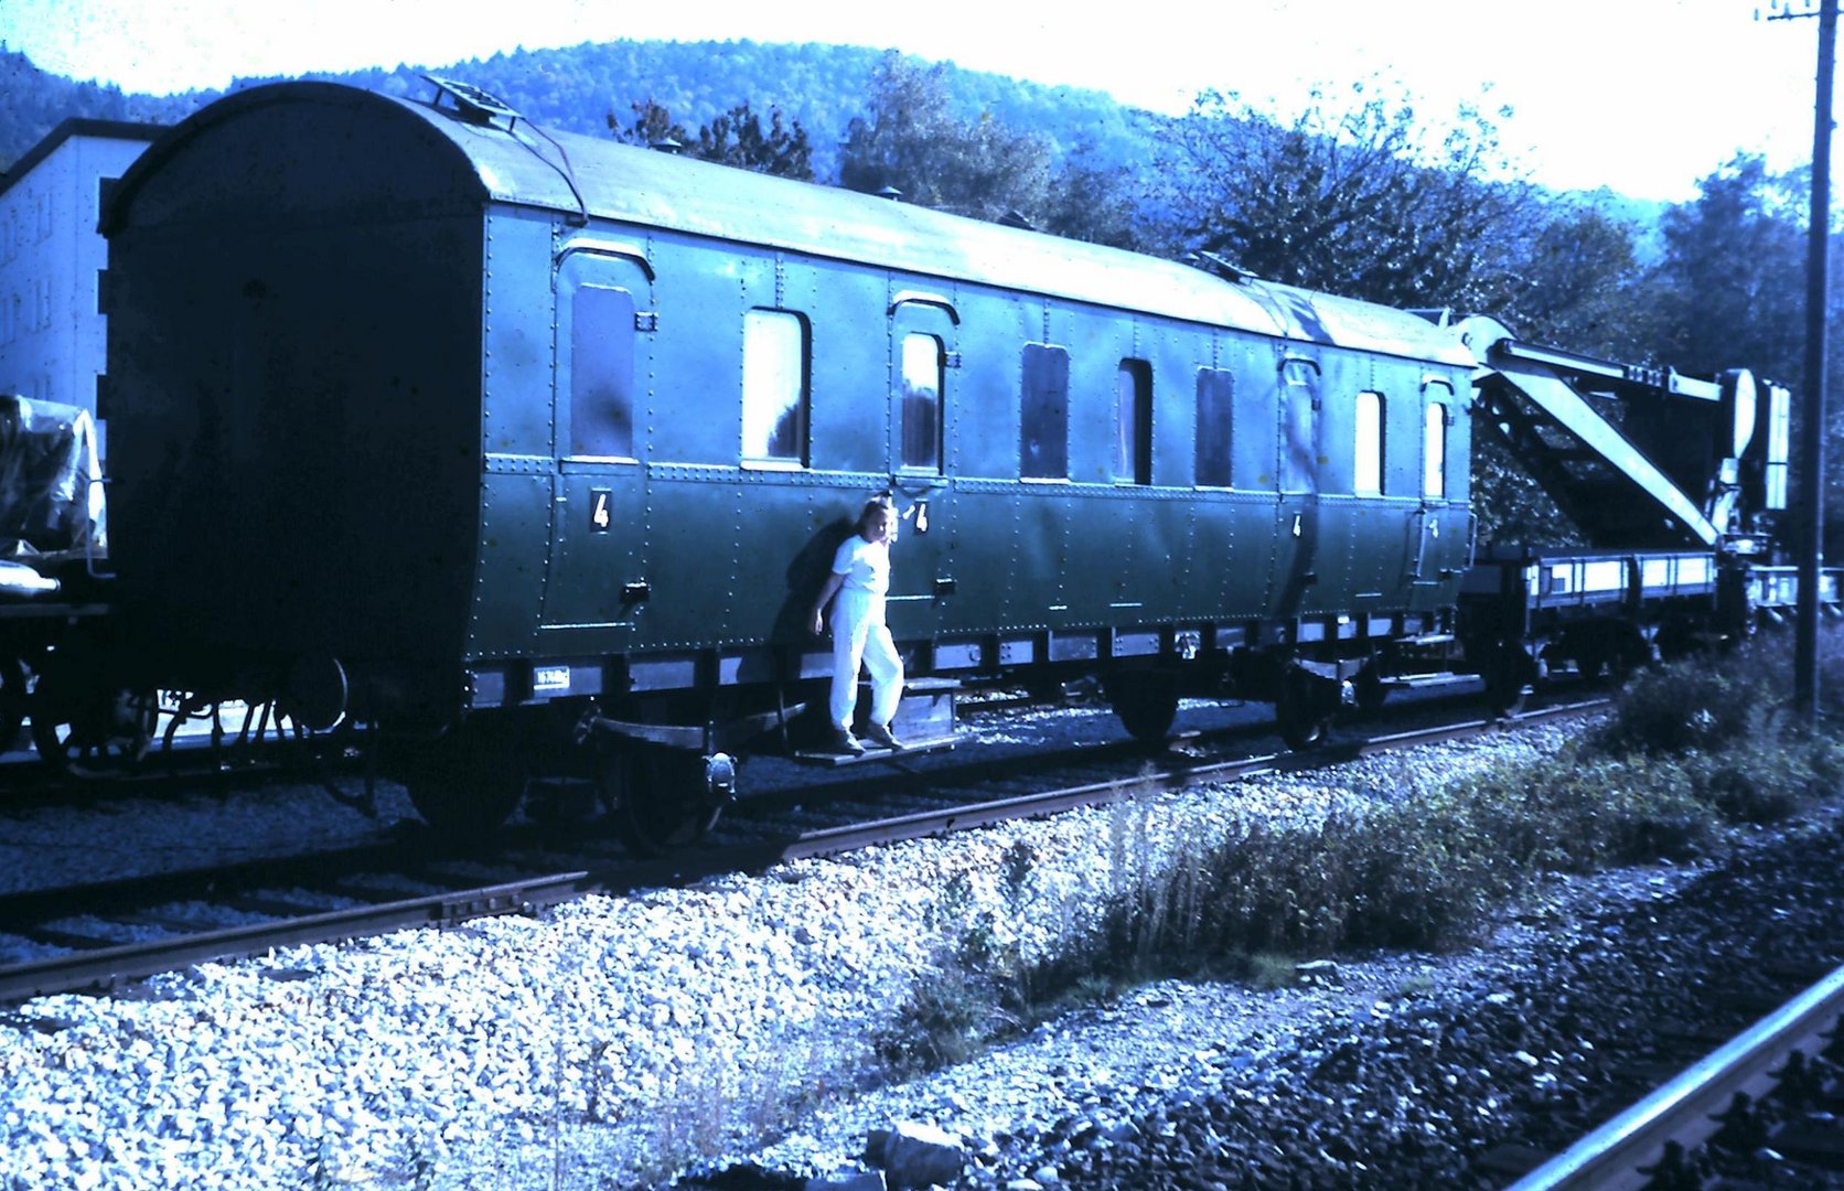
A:
{"type": "MultiPolygon", "coordinates": [[[[629,124],[632,105],[649,100],[693,131],[739,103],[763,116],[780,109],[806,129],[815,173],[832,179],[839,142],[850,122],[867,114],[872,72],[881,57],[883,52],[861,46],[616,41],[308,77],[422,96],[428,92],[424,74],[448,76],[483,87],[537,124],[599,135],[609,133],[610,114],[629,124]]],[[[269,79],[238,79],[232,88],[264,81],[269,79]]],[[[944,72],[944,81],[957,114],[990,112],[1040,136],[1053,159],[1088,144],[1099,166],[1145,160],[1156,118],[1125,109],[1103,92],[1042,87],[955,66],[944,72]]],[[[0,46],[0,168],[11,166],[66,116],[170,124],[219,94],[124,94],[42,72],[24,53],[0,46]]]]}

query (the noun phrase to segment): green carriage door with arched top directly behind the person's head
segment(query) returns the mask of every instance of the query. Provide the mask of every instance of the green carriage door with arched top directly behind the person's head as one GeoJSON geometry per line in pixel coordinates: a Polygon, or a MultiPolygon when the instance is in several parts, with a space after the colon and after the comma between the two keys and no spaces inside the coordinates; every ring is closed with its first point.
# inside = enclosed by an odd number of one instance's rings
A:
{"type": "Polygon", "coordinates": [[[959,315],[933,293],[891,302],[891,487],[898,548],[891,564],[889,625],[898,642],[931,640],[953,599],[953,492],[948,487],[948,385],[959,365],[959,315]]]}

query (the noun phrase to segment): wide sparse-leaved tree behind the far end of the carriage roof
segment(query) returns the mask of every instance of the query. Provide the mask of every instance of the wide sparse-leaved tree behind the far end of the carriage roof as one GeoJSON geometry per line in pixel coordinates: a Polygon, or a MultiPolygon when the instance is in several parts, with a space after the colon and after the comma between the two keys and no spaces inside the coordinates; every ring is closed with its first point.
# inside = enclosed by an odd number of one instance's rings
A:
{"type": "MultiPolygon", "coordinates": [[[[1525,234],[1532,192],[1499,157],[1477,107],[1429,142],[1405,100],[1359,83],[1322,92],[1293,124],[1210,92],[1171,125],[1180,232],[1258,277],[1392,306],[1488,310],[1503,245],[1525,234]]],[[[1508,109],[1499,112],[1508,114],[1508,109]]]]}

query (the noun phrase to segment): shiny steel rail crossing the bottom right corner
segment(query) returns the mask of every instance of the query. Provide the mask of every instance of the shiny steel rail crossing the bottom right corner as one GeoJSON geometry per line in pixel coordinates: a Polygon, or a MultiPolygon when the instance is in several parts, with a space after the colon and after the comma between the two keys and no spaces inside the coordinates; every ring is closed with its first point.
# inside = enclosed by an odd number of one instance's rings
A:
{"type": "Polygon", "coordinates": [[[1759,1099],[1794,1051],[1813,1055],[1844,1016],[1844,968],[1835,970],[1669,1084],[1593,1130],[1512,1185],[1512,1191],[1623,1191],[1652,1182],[1667,1147],[1691,1150],[1722,1128],[1737,1093],[1759,1099]]]}

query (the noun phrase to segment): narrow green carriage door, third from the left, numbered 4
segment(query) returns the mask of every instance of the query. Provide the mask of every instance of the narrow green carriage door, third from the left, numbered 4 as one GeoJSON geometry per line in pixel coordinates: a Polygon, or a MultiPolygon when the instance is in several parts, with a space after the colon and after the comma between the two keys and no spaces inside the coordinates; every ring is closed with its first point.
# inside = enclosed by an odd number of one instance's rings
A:
{"type": "MultiPolygon", "coordinates": [[[[1274,533],[1272,616],[1291,619],[1322,603],[1315,590],[1320,575],[1318,479],[1320,450],[1318,361],[1287,354],[1280,360],[1280,520],[1274,533]]],[[[1328,577],[1331,579],[1331,577],[1328,577]]]]}

